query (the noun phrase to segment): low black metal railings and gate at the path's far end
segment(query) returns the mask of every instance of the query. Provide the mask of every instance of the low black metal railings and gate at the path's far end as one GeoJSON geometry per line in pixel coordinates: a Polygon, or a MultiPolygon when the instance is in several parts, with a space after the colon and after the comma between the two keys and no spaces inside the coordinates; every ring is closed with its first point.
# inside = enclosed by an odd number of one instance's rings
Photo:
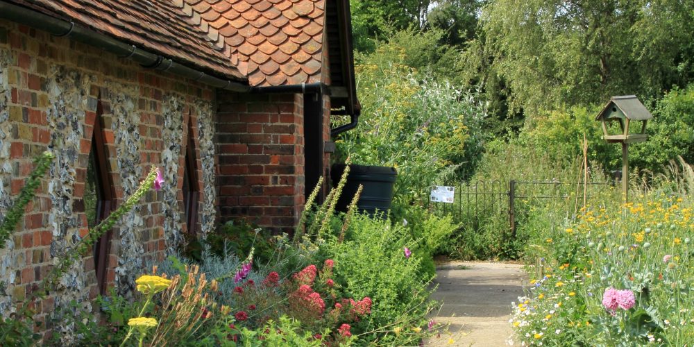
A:
{"type": "Polygon", "coordinates": [[[452,214],[454,220],[470,230],[479,230],[491,219],[508,220],[509,237],[516,238],[519,221],[534,208],[564,208],[577,213],[584,205],[597,205],[598,192],[611,189],[611,183],[566,183],[552,181],[477,181],[455,185],[453,203],[430,202],[430,210],[452,214]]]}

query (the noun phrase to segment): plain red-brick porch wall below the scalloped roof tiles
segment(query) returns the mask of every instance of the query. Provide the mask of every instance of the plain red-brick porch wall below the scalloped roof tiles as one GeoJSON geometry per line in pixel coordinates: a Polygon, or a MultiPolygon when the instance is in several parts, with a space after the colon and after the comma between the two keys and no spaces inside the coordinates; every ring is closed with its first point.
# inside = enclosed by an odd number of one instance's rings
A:
{"type": "Polygon", "coordinates": [[[244,217],[290,232],[304,203],[303,96],[217,96],[221,221],[244,217]]]}

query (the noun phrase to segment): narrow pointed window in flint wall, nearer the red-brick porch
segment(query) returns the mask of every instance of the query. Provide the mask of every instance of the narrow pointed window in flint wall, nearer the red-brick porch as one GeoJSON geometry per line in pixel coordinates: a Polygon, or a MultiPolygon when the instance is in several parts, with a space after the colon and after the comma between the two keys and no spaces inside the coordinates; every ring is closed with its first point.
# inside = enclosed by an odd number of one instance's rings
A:
{"type": "Polygon", "coordinates": [[[198,221],[200,189],[198,189],[198,169],[196,163],[197,156],[195,142],[193,141],[193,125],[192,121],[188,121],[188,141],[187,146],[185,146],[185,167],[183,169],[183,208],[189,237],[195,236],[196,223],[198,221]]]}

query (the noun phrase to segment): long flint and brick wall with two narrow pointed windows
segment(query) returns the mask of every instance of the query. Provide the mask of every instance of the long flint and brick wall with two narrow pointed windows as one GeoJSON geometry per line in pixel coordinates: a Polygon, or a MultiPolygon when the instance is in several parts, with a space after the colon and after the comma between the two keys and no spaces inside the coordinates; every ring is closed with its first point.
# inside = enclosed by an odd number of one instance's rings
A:
{"type": "MultiPolygon", "coordinates": [[[[143,69],[67,38],[0,21],[0,214],[22,187],[34,156],[46,149],[57,155],[49,177],[26,208],[24,221],[0,250],[0,281],[6,289],[0,294],[3,316],[13,312],[14,304],[22,302],[56,257],[87,232],[81,195],[95,121],[103,124],[108,181],[117,204],[134,192],[153,165],[162,167],[167,180],[162,191],[147,194],[138,210],[113,230],[107,273],[110,285],[123,292],[132,289],[146,261],[161,259],[164,250],[176,246],[185,232],[181,178],[189,119],[201,192],[196,228],[203,233],[212,230],[213,101],[214,91],[203,85],[143,69]]],[[[282,114],[282,119],[293,117],[294,111],[282,114]]],[[[264,130],[288,133],[289,127],[264,130]]],[[[267,144],[261,149],[262,153],[275,153],[268,164],[275,163],[276,171],[267,177],[271,180],[267,183],[278,181],[264,192],[267,196],[287,193],[287,187],[293,187],[301,174],[282,169],[288,160],[285,151],[297,151],[301,136],[276,135],[275,139],[277,146],[267,144]],[[291,148],[281,142],[289,142],[291,148]]],[[[278,217],[281,206],[298,205],[298,201],[281,202],[267,204],[278,208],[278,217]]],[[[282,213],[289,219],[294,211],[282,213]]],[[[87,257],[69,271],[53,296],[39,303],[37,319],[43,321],[56,305],[73,299],[90,307],[88,299],[96,293],[93,260],[87,257]]]]}

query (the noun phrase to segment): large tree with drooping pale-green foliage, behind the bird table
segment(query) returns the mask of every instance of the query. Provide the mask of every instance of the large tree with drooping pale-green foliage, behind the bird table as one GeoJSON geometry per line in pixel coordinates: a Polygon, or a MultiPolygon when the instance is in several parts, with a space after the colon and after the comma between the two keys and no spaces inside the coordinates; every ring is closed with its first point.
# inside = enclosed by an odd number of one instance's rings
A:
{"type": "Polygon", "coordinates": [[[502,81],[510,113],[654,99],[694,76],[691,0],[496,0],[480,21],[467,76],[502,81]]]}

